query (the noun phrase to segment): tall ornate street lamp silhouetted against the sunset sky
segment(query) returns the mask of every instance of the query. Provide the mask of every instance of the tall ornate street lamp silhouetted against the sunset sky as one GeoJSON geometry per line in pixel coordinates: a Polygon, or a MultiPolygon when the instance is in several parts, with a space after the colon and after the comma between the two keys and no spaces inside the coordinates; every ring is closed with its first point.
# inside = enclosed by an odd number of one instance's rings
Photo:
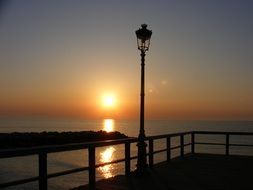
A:
{"type": "Polygon", "coordinates": [[[149,49],[150,38],[152,31],[147,29],[146,24],[142,24],[141,28],[136,30],[137,45],[141,51],[141,104],[140,104],[140,131],[138,136],[138,158],[137,158],[137,173],[143,174],[147,169],[147,144],[145,143],[144,130],[144,96],[145,96],[145,55],[149,49]]]}

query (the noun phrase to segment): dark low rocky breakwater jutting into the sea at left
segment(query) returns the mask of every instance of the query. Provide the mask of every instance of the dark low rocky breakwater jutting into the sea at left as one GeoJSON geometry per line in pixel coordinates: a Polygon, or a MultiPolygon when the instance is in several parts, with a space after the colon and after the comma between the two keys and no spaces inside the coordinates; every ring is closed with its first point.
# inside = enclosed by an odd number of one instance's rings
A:
{"type": "Polygon", "coordinates": [[[128,138],[128,136],[117,131],[0,133],[0,149],[62,145],[121,138],[128,138]]]}

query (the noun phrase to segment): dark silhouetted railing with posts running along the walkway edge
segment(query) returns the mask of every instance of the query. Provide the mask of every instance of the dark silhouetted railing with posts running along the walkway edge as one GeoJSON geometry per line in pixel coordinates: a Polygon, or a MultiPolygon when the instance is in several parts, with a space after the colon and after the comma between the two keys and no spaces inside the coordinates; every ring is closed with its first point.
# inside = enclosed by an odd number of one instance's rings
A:
{"type": "MultiPolygon", "coordinates": [[[[154,155],[166,152],[167,161],[171,160],[171,151],[175,149],[180,150],[180,157],[184,157],[185,155],[185,147],[191,146],[191,153],[195,153],[195,145],[222,145],[225,147],[225,155],[229,155],[229,149],[231,146],[247,146],[253,147],[249,144],[231,144],[230,143],[230,136],[231,135],[240,135],[240,136],[252,136],[253,133],[247,132],[210,132],[210,131],[190,131],[190,132],[183,132],[183,133],[174,133],[174,134],[166,134],[166,135],[157,135],[157,136],[149,136],[146,137],[146,141],[148,142],[148,160],[149,160],[149,167],[152,169],[154,165],[154,155]],[[185,136],[190,137],[190,142],[185,143],[185,136]],[[225,137],[225,143],[211,143],[211,142],[195,142],[196,135],[222,135],[225,137]],[[171,139],[179,137],[180,143],[179,145],[172,146],[171,139]],[[154,141],[166,139],[166,148],[161,150],[154,150],[154,141]]],[[[48,186],[48,179],[68,175],[72,173],[77,173],[81,171],[88,171],[89,173],[89,189],[93,190],[96,186],[96,168],[115,164],[119,162],[125,162],[125,175],[129,175],[131,172],[131,160],[136,159],[137,156],[131,156],[130,145],[131,143],[136,143],[137,138],[126,138],[126,139],[119,139],[119,140],[109,140],[109,141],[99,141],[99,142],[92,142],[92,143],[78,143],[78,144],[66,144],[66,145],[58,145],[58,146],[42,146],[42,147],[34,147],[34,148],[19,148],[19,149],[11,149],[11,150],[2,150],[0,151],[0,159],[1,158],[11,158],[11,157],[19,157],[19,156],[30,156],[30,155],[38,155],[38,162],[39,162],[39,175],[36,177],[10,181],[0,184],[0,188],[10,187],[14,185],[20,185],[24,183],[38,181],[39,183],[39,190],[47,190],[48,186]],[[125,145],[125,158],[114,160],[112,162],[107,163],[100,163],[96,164],[96,148],[110,146],[110,145],[125,145]],[[71,170],[65,170],[56,173],[47,172],[47,155],[49,153],[55,152],[63,152],[63,151],[72,151],[72,150],[81,150],[81,149],[88,149],[88,166],[75,168],[71,170]]]]}

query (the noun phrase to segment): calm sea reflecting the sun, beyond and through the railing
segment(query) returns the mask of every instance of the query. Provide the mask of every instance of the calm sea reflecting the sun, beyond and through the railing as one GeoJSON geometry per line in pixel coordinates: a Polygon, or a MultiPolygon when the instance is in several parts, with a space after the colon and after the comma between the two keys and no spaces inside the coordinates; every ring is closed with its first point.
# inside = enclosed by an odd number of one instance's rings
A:
{"type": "MultiPolygon", "coordinates": [[[[11,132],[43,132],[43,131],[119,131],[129,137],[137,137],[139,133],[138,120],[116,120],[105,118],[101,120],[84,119],[62,119],[62,118],[41,118],[22,117],[10,118],[0,117],[0,133],[11,132]]],[[[146,136],[171,134],[192,130],[201,131],[233,131],[253,132],[253,121],[191,121],[191,120],[145,120],[146,136]]],[[[199,136],[196,141],[224,143],[222,135],[199,136]]],[[[190,142],[186,137],[185,142],[190,142]]],[[[231,143],[251,144],[252,136],[232,136],[231,143]]],[[[172,139],[172,146],[179,143],[179,138],[172,139]]],[[[165,140],[156,140],[154,149],[165,148],[165,140]]],[[[185,148],[189,152],[190,147],[185,148]]],[[[203,146],[197,145],[196,151],[200,153],[224,154],[224,146],[203,146]]],[[[231,154],[252,155],[252,147],[231,147],[231,154]]],[[[137,155],[136,144],[131,144],[131,156],[137,155]]],[[[172,157],[179,155],[179,150],[173,150],[172,157]]],[[[110,162],[115,159],[124,158],[124,145],[107,146],[96,149],[96,163],[110,162]]],[[[165,153],[154,156],[155,163],[165,161],[165,153]]],[[[87,150],[66,151],[48,154],[48,173],[54,173],[74,168],[88,166],[87,150]]],[[[135,170],[136,160],[131,161],[131,170],[135,170]]],[[[96,169],[96,180],[110,178],[124,174],[124,163],[111,164],[96,169]]],[[[0,159],[0,183],[18,179],[38,176],[38,156],[24,156],[15,158],[0,159]]],[[[66,176],[51,178],[48,180],[49,190],[68,190],[73,187],[88,184],[88,172],[83,171],[66,176]]],[[[38,182],[6,188],[8,190],[37,190],[38,182]]]]}

